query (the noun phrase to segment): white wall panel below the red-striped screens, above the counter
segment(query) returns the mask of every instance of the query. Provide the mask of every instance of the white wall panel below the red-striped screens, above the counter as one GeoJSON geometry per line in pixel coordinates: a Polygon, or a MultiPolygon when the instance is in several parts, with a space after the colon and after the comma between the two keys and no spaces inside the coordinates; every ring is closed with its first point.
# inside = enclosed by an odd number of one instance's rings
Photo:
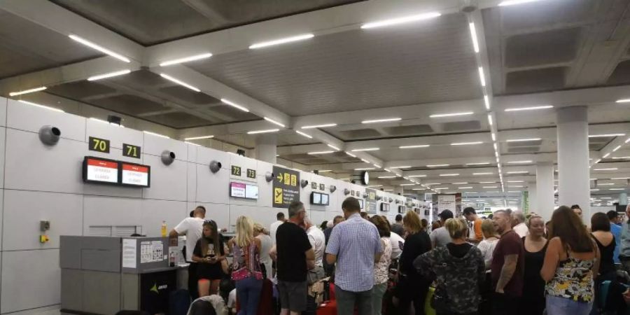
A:
{"type": "Polygon", "coordinates": [[[90,225],[142,225],[142,200],[136,198],[85,196],[83,235],[90,225]]]}

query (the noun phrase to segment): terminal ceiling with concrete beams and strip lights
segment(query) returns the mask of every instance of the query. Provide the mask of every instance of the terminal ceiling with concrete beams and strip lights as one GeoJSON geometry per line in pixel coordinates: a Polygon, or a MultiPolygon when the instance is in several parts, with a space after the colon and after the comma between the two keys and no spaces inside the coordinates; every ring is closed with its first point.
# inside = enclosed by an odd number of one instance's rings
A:
{"type": "Polygon", "coordinates": [[[3,1],[0,95],[507,206],[557,169],[556,110],[587,106],[592,204],[627,189],[630,1],[262,2],[3,1]]]}

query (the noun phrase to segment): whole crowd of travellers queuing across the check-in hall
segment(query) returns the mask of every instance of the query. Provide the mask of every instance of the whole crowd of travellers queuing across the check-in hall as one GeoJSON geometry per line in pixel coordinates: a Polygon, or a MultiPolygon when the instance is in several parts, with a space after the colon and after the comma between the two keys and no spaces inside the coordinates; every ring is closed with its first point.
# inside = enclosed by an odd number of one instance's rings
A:
{"type": "Polygon", "coordinates": [[[353,197],[342,211],[318,227],[304,204],[293,202],[288,220],[279,214],[272,233],[240,216],[236,236],[225,241],[198,207],[171,232],[187,235],[186,247],[194,248],[186,253],[191,295],[216,295],[230,274],[239,315],[272,314],[260,304],[263,279],[273,279],[279,314],[318,314],[314,286],[330,276],[339,315],[624,315],[629,309],[630,291],[619,275],[630,272],[630,219],[619,222],[615,211],[594,214],[587,228],[576,206],[559,207],[547,223],[509,209],[491,219],[470,207],[459,218],[444,210],[430,234],[413,211],[390,224],[361,213],[353,197]]]}

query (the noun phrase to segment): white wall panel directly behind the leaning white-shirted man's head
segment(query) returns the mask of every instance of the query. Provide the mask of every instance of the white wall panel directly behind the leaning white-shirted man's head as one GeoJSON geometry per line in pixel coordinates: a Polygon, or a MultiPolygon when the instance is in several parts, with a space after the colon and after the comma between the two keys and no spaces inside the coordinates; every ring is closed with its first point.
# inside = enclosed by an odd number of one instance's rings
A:
{"type": "Polygon", "coordinates": [[[142,234],[148,237],[162,235],[162,221],[166,221],[167,229],[173,230],[184,218],[188,218],[186,202],[169,200],[142,200],[140,221],[142,234]]]}

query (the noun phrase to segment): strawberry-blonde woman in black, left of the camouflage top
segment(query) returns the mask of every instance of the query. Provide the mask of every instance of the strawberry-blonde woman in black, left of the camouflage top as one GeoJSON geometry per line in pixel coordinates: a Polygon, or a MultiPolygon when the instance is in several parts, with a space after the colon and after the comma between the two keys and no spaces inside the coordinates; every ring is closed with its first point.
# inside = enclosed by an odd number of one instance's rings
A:
{"type": "Polygon", "coordinates": [[[424,314],[424,299],[430,281],[414,268],[414,260],[431,250],[431,239],[422,230],[420,217],[414,211],[407,211],[402,218],[402,228],[407,233],[405,246],[398,264],[398,286],[395,297],[400,300],[400,314],[409,314],[412,305],[415,314],[424,314]]]}

